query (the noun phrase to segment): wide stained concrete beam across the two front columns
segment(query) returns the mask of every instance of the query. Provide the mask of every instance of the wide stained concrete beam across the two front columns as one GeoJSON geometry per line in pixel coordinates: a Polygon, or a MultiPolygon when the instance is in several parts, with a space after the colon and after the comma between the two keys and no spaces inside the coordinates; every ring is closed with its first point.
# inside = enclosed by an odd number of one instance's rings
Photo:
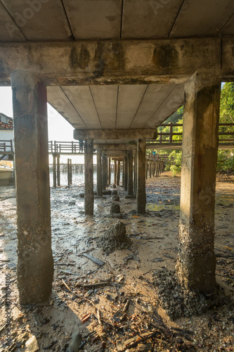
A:
{"type": "Polygon", "coordinates": [[[234,77],[233,40],[203,37],[1,43],[0,84],[10,85],[11,73],[25,68],[39,75],[44,84],[58,86],[184,83],[195,70],[210,67],[216,72],[223,70],[225,77],[234,77]]]}

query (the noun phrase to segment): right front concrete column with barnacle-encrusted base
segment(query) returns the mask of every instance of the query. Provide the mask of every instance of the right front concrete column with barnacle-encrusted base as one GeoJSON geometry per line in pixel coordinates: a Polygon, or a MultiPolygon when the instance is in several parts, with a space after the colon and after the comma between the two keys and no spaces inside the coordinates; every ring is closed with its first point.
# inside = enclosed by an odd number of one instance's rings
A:
{"type": "Polygon", "coordinates": [[[181,220],[176,272],[188,289],[215,289],[214,198],[221,82],[195,73],[186,83],[181,220]]]}

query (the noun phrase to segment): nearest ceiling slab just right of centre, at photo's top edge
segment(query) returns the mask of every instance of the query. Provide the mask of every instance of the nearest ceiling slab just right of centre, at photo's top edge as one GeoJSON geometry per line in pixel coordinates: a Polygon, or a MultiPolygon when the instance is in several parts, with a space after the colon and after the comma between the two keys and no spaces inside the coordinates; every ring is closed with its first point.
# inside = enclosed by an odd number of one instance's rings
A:
{"type": "Polygon", "coordinates": [[[122,38],[168,37],[182,0],[125,0],[122,38]]]}

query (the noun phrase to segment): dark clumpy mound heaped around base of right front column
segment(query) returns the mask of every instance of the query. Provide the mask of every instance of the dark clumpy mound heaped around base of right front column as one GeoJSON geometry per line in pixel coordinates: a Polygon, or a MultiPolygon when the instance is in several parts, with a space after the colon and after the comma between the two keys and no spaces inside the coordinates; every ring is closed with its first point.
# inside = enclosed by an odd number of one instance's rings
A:
{"type": "Polygon", "coordinates": [[[228,303],[221,289],[216,289],[212,297],[205,297],[195,291],[188,291],[178,282],[175,271],[162,268],[153,273],[160,306],[173,320],[191,315],[200,315],[212,306],[228,303]]]}

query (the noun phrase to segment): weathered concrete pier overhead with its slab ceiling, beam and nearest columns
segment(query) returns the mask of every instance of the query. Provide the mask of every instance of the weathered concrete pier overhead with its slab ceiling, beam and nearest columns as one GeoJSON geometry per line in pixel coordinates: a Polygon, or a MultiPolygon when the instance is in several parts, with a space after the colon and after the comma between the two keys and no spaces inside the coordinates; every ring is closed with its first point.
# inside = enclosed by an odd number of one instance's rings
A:
{"type": "Polygon", "coordinates": [[[87,214],[93,144],[131,140],[145,212],[145,141],[184,103],[176,270],[188,289],[212,294],[214,194],[209,206],[201,194],[215,184],[221,81],[233,80],[233,1],[0,4],[0,84],[13,89],[20,303],[48,298],[53,281],[46,94],[85,140],[87,214]]]}

